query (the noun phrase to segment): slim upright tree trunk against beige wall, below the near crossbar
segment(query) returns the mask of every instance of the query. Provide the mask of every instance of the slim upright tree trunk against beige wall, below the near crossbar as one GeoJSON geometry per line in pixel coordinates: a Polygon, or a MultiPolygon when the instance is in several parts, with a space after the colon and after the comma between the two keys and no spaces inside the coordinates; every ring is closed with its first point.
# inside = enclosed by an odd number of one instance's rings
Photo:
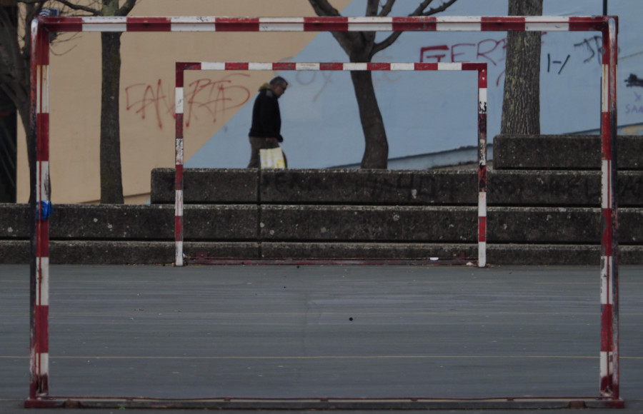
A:
{"type": "Polygon", "coordinates": [[[101,203],[123,203],[119,91],[121,34],[101,33],[103,75],[101,94],[101,203]]]}

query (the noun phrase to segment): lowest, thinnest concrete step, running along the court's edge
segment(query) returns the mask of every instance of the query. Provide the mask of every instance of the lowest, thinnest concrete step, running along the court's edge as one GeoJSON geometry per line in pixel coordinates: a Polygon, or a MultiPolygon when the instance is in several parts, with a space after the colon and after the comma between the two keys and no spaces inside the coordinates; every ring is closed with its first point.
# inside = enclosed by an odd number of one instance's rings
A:
{"type": "MultiPolygon", "coordinates": [[[[174,243],[166,241],[51,241],[51,264],[170,265],[174,243]]],[[[477,258],[476,243],[284,243],[188,242],[184,252],[222,261],[331,261],[387,259],[477,258]]],[[[0,263],[29,263],[29,241],[0,240],[0,263]]],[[[487,263],[502,265],[600,264],[598,244],[489,243],[487,263]]],[[[619,246],[619,263],[643,263],[643,246],[619,246]]],[[[216,273],[216,269],[213,270],[216,273]]]]}

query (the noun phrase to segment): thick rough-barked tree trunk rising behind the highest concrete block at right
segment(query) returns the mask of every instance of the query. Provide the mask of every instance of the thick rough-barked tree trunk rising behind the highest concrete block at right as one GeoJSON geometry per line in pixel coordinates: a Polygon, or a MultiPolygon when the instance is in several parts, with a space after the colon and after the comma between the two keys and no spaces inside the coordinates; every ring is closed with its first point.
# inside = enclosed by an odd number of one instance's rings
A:
{"type": "MultiPolygon", "coordinates": [[[[542,15],[543,0],[509,0],[509,16],[542,15]]],[[[540,133],[539,31],[507,33],[507,67],[500,133],[540,133]]]]}

